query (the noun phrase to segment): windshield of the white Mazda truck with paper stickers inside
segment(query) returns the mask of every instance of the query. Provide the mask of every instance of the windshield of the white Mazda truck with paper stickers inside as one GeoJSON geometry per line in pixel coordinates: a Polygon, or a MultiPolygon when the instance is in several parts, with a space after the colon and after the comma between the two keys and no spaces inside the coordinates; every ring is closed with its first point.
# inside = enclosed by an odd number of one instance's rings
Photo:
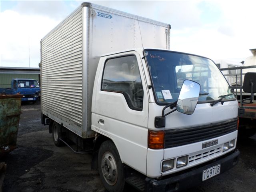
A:
{"type": "Polygon", "coordinates": [[[235,96],[218,67],[208,58],[162,51],[145,50],[156,103],[178,100],[183,81],[188,79],[201,86],[198,102],[234,100],[235,96]]]}

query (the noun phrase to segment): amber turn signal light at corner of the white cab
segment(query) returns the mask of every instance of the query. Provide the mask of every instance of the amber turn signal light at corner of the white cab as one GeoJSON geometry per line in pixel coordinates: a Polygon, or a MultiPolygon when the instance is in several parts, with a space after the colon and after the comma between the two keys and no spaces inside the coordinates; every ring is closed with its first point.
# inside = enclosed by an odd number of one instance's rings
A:
{"type": "Polygon", "coordinates": [[[148,130],[148,148],[150,149],[164,148],[164,131],[148,130]]]}

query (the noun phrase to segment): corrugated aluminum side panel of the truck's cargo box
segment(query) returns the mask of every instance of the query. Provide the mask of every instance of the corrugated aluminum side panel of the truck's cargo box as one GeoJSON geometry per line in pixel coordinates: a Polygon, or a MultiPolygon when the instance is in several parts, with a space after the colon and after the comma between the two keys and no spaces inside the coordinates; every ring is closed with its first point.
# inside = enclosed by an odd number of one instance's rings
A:
{"type": "Polygon", "coordinates": [[[82,8],[41,41],[42,112],[82,136],[82,8]]]}

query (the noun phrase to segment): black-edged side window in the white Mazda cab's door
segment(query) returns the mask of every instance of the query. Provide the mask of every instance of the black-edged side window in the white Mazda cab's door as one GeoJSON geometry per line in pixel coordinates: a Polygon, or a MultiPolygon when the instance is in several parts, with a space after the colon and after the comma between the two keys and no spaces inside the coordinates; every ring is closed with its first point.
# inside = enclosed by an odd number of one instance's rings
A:
{"type": "Polygon", "coordinates": [[[144,92],[136,56],[108,59],[101,89],[123,94],[129,108],[142,111],[144,92]]]}

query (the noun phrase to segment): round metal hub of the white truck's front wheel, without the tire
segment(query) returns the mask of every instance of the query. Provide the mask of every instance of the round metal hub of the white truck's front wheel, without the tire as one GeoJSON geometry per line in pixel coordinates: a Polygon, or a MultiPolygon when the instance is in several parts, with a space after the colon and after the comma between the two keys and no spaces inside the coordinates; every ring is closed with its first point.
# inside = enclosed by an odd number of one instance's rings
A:
{"type": "Polygon", "coordinates": [[[101,159],[101,171],[105,181],[109,185],[116,184],[118,172],[117,172],[116,160],[114,159],[112,153],[105,152],[103,154],[101,159]]]}

